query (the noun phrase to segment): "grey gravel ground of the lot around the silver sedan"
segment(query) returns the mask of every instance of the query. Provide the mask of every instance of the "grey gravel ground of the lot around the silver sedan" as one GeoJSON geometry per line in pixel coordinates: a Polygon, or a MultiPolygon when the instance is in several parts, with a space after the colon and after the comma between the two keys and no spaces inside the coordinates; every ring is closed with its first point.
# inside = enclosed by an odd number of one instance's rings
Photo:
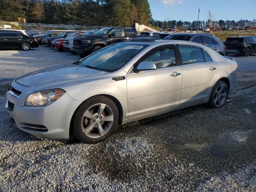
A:
{"type": "Polygon", "coordinates": [[[120,126],[95,145],[44,140],[5,111],[11,82],[78,56],[40,47],[0,51],[0,191],[255,191],[256,56],[233,56],[238,84],[204,105],[120,126]]]}

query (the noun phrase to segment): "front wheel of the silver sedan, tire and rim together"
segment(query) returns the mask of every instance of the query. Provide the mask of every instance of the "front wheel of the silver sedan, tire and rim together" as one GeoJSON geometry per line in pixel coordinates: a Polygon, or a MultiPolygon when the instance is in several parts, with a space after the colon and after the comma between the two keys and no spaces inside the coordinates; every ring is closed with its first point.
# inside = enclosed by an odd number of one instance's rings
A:
{"type": "Polygon", "coordinates": [[[71,122],[72,137],[94,144],[106,140],[118,124],[118,108],[105,96],[94,96],[84,101],[71,122]]]}

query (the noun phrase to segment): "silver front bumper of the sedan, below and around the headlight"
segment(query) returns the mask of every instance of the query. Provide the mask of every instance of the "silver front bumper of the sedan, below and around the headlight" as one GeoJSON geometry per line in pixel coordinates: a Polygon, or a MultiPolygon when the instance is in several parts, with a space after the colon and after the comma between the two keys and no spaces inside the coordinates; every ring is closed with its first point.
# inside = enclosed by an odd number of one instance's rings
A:
{"type": "Polygon", "coordinates": [[[12,86],[22,93],[18,97],[10,93],[6,94],[6,111],[20,130],[39,138],[69,138],[70,121],[81,102],[65,93],[48,106],[25,106],[27,96],[33,93],[35,88],[22,86],[16,82],[12,86]],[[9,107],[10,104],[12,107],[9,107]]]}

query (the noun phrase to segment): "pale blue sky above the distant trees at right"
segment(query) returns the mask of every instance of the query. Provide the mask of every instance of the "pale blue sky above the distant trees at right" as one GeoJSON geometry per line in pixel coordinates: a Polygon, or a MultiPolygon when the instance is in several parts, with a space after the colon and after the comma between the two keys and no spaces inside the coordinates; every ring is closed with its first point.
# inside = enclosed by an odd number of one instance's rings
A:
{"type": "Polygon", "coordinates": [[[216,20],[256,19],[256,0],[148,0],[154,20],[206,20],[211,10],[216,20]]]}

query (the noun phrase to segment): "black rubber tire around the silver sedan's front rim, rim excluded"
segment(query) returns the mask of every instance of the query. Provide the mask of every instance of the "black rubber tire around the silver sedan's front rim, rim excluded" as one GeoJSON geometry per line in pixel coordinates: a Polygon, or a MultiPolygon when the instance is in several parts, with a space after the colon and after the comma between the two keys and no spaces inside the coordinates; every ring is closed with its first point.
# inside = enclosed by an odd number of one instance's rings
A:
{"type": "Polygon", "coordinates": [[[116,104],[112,100],[110,100],[105,96],[95,96],[95,97],[89,98],[88,100],[84,101],[74,113],[74,118],[72,119],[72,134],[73,134],[72,136],[88,144],[102,142],[103,140],[107,139],[115,131],[116,126],[118,124],[118,118],[119,118],[118,108],[116,107],[116,104]],[[99,104],[99,103],[103,103],[110,106],[114,114],[114,121],[110,130],[104,136],[100,138],[90,138],[86,136],[82,131],[82,126],[81,126],[82,117],[84,112],[88,110],[88,108],[90,108],[94,104],[99,104]]]}

